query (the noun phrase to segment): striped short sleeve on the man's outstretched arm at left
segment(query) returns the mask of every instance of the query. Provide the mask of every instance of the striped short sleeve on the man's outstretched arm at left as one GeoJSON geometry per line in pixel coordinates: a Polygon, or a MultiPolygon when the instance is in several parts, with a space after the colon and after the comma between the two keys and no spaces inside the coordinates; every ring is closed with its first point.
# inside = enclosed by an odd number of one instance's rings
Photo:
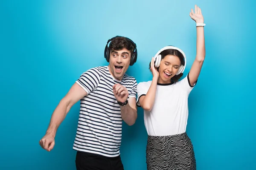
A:
{"type": "Polygon", "coordinates": [[[85,71],[79,79],[76,80],[76,83],[80,85],[81,88],[86,91],[87,94],[90,94],[95,88],[98,87],[100,80],[100,72],[98,68],[91,68],[85,71]]]}

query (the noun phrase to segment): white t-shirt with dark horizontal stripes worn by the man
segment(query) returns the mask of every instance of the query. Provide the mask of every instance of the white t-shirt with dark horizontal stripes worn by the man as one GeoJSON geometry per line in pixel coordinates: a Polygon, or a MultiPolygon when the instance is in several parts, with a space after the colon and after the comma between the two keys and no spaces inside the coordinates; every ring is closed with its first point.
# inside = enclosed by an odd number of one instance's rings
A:
{"type": "Polygon", "coordinates": [[[74,150],[95,153],[102,156],[119,156],[122,139],[122,117],[120,106],[113,94],[113,85],[119,83],[137,96],[137,81],[124,74],[121,81],[115,79],[108,66],[87,70],[76,81],[87,95],[80,100],[79,122],[74,150]]]}

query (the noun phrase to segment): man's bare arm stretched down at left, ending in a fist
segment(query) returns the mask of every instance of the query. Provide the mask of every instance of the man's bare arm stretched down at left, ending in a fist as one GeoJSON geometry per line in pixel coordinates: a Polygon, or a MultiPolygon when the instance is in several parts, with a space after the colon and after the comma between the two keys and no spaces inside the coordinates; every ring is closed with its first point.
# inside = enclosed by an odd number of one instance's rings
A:
{"type": "Polygon", "coordinates": [[[69,92],[66,94],[66,96],[64,96],[63,99],[61,99],[58,106],[52,113],[46,134],[39,142],[42,148],[47,151],[52,150],[55,144],[54,138],[59,125],[65,119],[67,113],[70,111],[70,108],[86,95],[87,92],[84,91],[84,89],[81,88],[77,83],[70,88],[69,92]]]}

